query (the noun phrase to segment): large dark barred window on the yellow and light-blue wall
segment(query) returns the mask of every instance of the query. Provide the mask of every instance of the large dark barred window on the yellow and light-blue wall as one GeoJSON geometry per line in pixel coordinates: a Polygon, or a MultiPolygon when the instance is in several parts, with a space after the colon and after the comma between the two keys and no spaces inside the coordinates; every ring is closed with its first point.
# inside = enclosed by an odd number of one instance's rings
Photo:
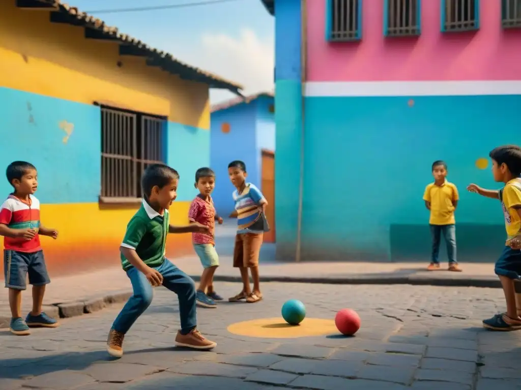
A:
{"type": "Polygon", "coordinates": [[[163,163],[166,118],[101,107],[100,201],[125,203],[143,197],[141,176],[163,163]]]}

